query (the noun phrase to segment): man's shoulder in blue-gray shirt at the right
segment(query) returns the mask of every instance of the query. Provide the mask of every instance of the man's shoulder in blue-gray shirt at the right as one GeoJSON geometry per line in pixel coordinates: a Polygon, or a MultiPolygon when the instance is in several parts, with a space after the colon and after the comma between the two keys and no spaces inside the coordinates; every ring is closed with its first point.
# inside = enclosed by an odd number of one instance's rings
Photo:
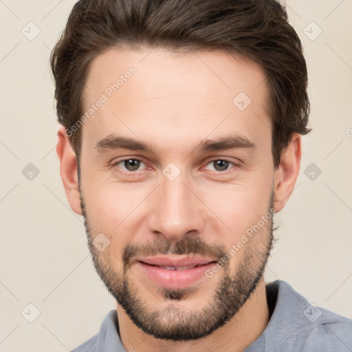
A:
{"type": "Polygon", "coordinates": [[[267,303],[272,317],[259,339],[265,351],[352,351],[352,320],[309,303],[285,281],[267,285],[267,303]]]}

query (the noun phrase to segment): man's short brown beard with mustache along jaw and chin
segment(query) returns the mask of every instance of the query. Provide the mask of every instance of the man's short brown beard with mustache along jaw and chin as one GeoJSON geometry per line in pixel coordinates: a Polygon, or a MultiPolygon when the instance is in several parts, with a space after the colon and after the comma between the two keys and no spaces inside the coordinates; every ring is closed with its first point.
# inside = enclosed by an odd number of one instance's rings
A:
{"type": "MultiPolygon", "coordinates": [[[[80,199],[89,250],[96,272],[131,321],[144,333],[158,339],[197,340],[208,336],[225,325],[255,291],[263,277],[267,259],[273,248],[274,222],[271,218],[265,223],[261,232],[254,234],[253,238],[241,248],[245,253],[233,277],[229,274],[230,261],[225,264],[221,263],[223,267],[214,275],[214,277],[221,275],[221,280],[217,283],[214,294],[209,298],[206,307],[186,311],[181,309],[179,305],[186,302],[188,296],[191,296],[193,292],[201,289],[200,284],[199,287],[186,289],[161,288],[160,294],[164,301],[168,301],[169,304],[164,309],[158,309],[157,305],[162,301],[162,298],[157,300],[152,294],[149,301],[155,299],[155,308],[151,308],[140,293],[140,287],[144,285],[138,280],[133,283],[131,277],[135,276],[134,274],[129,275],[130,259],[135,254],[197,254],[199,256],[206,254],[221,261],[221,258],[226,254],[225,249],[221,245],[208,245],[199,238],[188,236],[184,236],[178,243],[168,243],[161,239],[147,245],[129,243],[124,248],[122,259],[120,259],[123,262],[123,272],[118,272],[115,270],[115,265],[111,263],[109,252],[99,252],[91,243],[96,232],[90,227],[82,192],[80,192],[80,199]]],[[[272,194],[268,212],[272,210],[273,204],[274,197],[272,194]]],[[[119,259],[115,258],[113,261],[116,263],[119,259]]]]}

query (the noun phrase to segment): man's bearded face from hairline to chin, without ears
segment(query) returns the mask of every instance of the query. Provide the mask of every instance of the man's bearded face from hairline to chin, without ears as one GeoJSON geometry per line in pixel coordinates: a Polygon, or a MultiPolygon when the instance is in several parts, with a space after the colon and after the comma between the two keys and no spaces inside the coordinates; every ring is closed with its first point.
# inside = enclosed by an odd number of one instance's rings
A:
{"type": "Polygon", "coordinates": [[[144,332],[206,336],[254,292],[272,246],[265,74],[223,52],[109,50],[86,84],[80,200],[96,270],[144,332]]]}

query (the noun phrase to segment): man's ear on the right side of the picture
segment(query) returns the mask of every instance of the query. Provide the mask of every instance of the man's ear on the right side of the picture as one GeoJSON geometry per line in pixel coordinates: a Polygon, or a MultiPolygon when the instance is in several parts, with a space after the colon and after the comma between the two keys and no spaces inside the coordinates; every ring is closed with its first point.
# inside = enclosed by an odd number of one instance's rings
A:
{"type": "Polygon", "coordinates": [[[294,191],[294,185],[300,170],[302,156],[302,137],[295,133],[287,148],[281,153],[280,164],[274,173],[276,212],[281,211],[294,191]]]}

